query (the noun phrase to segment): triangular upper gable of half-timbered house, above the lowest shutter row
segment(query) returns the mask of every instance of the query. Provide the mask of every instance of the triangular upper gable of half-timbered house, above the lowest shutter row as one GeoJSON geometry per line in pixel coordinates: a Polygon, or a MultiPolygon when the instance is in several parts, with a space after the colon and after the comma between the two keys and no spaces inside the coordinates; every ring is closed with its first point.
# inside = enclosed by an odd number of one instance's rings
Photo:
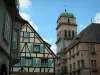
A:
{"type": "Polygon", "coordinates": [[[21,38],[20,38],[20,44],[21,46],[24,46],[20,48],[20,51],[27,52],[26,54],[23,53],[23,55],[27,55],[28,57],[50,57],[55,58],[55,54],[51,51],[50,45],[46,43],[40,35],[34,30],[34,28],[29,25],[25,24],[22,27],[21,30],[21,38]],[[26,32],[28,34],[26,34],[26,32]],[[28,37],[28,38],[26,38],[28,37]],[[34,48],[39,46],[40,52],[34,52],[34,48]]]}

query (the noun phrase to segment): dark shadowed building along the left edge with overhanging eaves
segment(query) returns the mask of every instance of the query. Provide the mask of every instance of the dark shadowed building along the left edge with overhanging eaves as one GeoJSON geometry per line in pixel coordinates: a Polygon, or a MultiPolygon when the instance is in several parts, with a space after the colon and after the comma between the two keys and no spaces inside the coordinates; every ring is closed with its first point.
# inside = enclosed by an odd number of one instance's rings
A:
{"type": "Polygon", "coordinates": [[[9,75],[9,65],[18,62],[19,31],[24,22],[18,0],[0,0],[0,75],[9,75]]]}

